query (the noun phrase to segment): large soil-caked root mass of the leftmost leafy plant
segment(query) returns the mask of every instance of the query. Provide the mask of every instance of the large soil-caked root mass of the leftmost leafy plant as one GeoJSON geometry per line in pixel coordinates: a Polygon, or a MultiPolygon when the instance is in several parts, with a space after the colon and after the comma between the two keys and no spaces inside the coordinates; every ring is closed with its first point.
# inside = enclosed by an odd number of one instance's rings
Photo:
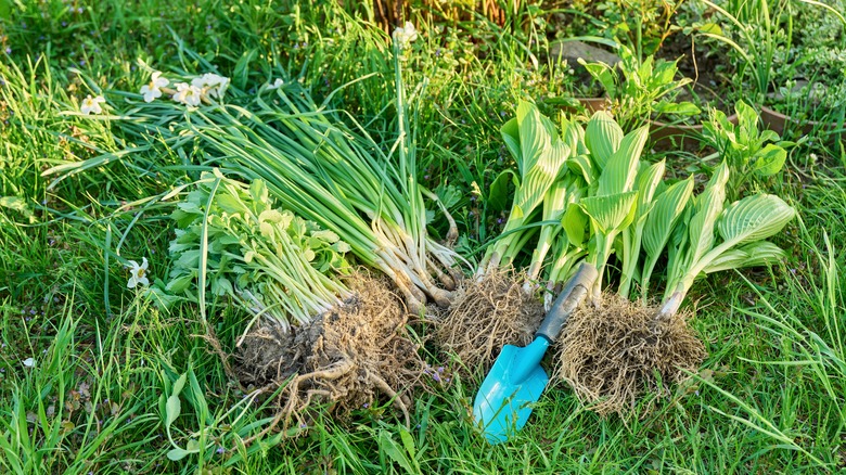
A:
{"type": "Polygon", "coordinates": [[[406,329],[409,313],[384,280],[358,274],[347,285],[355,296],[341,308],[289,333],[265,324],[244,339],[242,383],[284,386],[272,426],[304,424],[318,405],[343,416],[392,399],[409,423],[411,390],[425,367],[406,329]]]}

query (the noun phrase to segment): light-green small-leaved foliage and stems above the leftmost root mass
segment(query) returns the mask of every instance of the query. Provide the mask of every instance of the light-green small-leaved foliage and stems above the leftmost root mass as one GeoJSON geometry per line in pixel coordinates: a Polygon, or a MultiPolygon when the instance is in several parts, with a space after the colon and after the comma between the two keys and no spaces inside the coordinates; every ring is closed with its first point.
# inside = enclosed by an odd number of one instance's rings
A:
{"type": "Polygon", "coordinates": [[[274,206],[262,180],[247,185],[204,172],[172,213],[176,239],[167,291],[202,300],[229,296],[283,329],[322,313],[349,292],[349,245],[274,206]]]}

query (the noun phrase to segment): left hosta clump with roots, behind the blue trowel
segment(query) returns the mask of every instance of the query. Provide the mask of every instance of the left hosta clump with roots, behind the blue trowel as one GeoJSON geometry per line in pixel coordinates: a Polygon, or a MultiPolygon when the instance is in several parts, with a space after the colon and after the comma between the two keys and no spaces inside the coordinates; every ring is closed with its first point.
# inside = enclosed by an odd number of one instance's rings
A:
{"type": "Polygon", "coordinates": [[[538,316],[542,310],[533,306],[539,308],[539,300],[551,304],[580,262],[598,270],[589,284],[591,298],[600,298],[605,265],[618,247],[617,236],[633,218],[646,129],[624,134],[610,115],[599,112],[584,129],[562,119],[559,132],[537,107],[521,103],[502,137],[520,178],[511,215],[479,264],[473,284],[477,290],[459,295],[439,338],[448,350],[464,359],[480,354],[484,362],[496,356],[490,348],[498,352],[504,344],[531,341],[542,318],[538,316]],[[513,284],[502,283],[503,268],[524,252],[531,256],[527,272],[516,274],[513,284]],[[491,331],[478,332],[479,328],[491,331]]]}

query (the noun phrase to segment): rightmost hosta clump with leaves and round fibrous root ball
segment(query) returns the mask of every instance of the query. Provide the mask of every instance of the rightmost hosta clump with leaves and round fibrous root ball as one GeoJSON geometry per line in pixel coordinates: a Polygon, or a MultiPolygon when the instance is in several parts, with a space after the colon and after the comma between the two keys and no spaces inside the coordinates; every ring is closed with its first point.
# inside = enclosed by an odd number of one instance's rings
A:
{"type": "MultiPolygon", "coordinates": [[[[666,252],[667,283],[659,307],[648,307],[644,299],[629,303],[620,296],[571,322],[561,342],[557,374],[599,412],[631,409],[639,395],[678,382],[696,369],[704,348],[678,314],[695,279],[769,265],[783,257],[782,249],[766,240],[779,233],[796,211],[770,194],[746,196],[726,206],[729,174],[722,163],[695,197],[689,185],[680,184],[684,182],[669,187],[657,195],[639,228],[648,262],[638,272],[643,295],[656,260],[650,256],[666,252]]],[[[636,259],[640,254],[636,251],[628,258],[636,259]]],[[[627,267],[625,261],[623,267],[627,267]]]]}

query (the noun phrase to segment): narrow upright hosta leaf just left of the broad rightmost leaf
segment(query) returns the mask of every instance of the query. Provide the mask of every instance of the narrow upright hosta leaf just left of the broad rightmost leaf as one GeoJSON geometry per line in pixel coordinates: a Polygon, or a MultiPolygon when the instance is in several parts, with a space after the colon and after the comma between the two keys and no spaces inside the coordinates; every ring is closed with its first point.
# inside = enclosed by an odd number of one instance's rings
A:
{"type": "Polygon", "coordinates": [[[693,217],[688,224],[690,232],[690,254],[688,262],[696,262],[714,247],[714,227],[722,213],[726,201],[726,182],[729,180],[729,167],[721,163],[710,181],[694,201],[693,217]]]}

